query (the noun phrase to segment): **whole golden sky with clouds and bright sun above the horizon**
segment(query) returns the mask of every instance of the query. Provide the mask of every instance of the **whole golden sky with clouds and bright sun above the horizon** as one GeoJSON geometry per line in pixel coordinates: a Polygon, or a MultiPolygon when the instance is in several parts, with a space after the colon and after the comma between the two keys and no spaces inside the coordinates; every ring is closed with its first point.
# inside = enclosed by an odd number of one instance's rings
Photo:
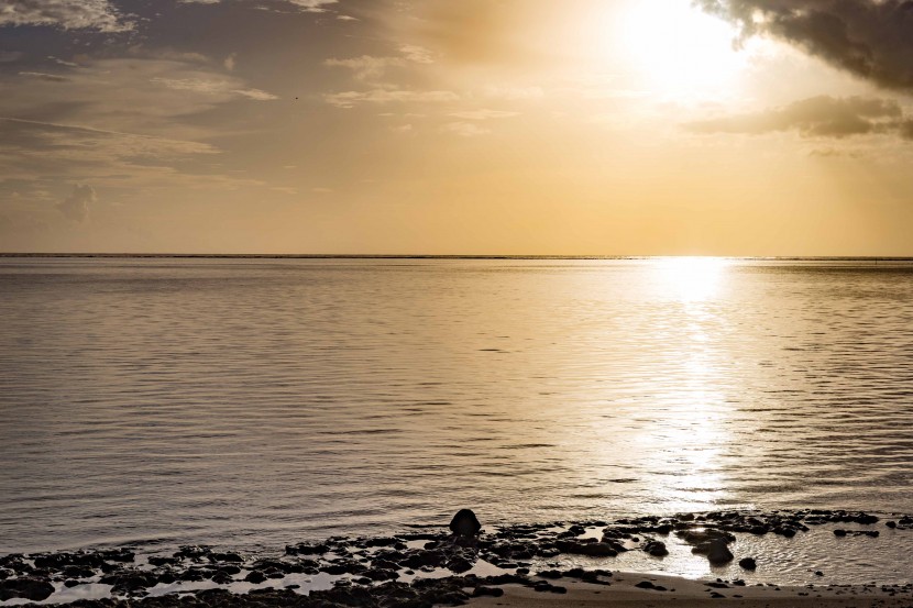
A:
{"type": "Polygon", "coordinates": [[[911,0],[0,0],[0,252],[913,255],[911,0]]]}

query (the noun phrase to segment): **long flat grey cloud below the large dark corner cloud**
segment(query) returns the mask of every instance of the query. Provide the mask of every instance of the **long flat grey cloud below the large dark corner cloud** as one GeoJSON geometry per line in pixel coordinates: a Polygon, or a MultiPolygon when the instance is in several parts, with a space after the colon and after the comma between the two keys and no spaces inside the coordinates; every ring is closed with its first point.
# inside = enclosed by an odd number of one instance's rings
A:
{"type": "Polygon", "coordinates": [[[803,99],[762,112],[690,122],[695,133],[744,133],[761,135],[798,132],[803,137],[842,139],[872,133],[893,133],[905,139],[906,124],[900,104],[893,100],[828,96],[803,99]]]}

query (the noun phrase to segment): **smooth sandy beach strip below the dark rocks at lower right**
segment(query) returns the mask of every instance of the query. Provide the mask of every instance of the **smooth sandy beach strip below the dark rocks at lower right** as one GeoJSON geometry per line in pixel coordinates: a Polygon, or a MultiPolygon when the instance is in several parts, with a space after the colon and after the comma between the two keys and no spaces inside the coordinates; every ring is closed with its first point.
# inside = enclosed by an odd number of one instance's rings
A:
{"type": "MultiPolygon", "coordinates": [[[[549,608],[553,606],[610,606],[614,608],[891,608],[913,607],[913,587],[905,586],[735,586],[715,581],[619,573],[597,585],[572,579],[550,581],[556,590],[540,592],[504,585],[499,597],[475,597],[473,608],[549,608]],[[647,585],[657,588],[645,588],[647,585]],[[640,585],[638,587],[637,585],[640,585]],[[563,593],[559,593],[564,589],[563,593]],[[662,590],[666,589],[666,590],[662,590]]],[[[497,592],[495,592],[497,593],[497,592]]]]}

